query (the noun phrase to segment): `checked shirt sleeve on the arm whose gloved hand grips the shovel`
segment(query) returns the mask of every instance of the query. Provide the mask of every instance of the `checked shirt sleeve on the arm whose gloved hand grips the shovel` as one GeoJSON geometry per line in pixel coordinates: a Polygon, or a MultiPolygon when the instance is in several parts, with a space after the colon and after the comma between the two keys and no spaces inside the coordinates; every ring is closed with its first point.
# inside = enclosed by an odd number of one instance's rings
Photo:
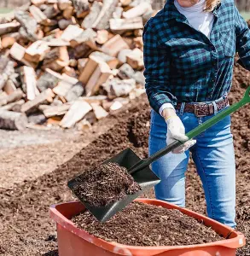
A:
{"type": "Polygon", "coordinates": [[[149,104],[158,113],[164,103],[175,105],[177,99],[169,89],[170,52],[165,45],[160,44],[157,27],[152,26],[150,21],[143,31],[144,76],[149,104]]]}

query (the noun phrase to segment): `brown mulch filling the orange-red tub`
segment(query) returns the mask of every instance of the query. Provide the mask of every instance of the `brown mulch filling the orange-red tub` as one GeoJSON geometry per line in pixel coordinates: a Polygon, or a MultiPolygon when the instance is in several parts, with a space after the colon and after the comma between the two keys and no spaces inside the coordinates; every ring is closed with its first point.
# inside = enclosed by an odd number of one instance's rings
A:
{"type": "Polygon", "coordinates": [[[91,235],[131,246],[181,246],[224,239],[182,212],[139,202],[132,202],[106,223],[87,211],[72,221],[91,235]]]}

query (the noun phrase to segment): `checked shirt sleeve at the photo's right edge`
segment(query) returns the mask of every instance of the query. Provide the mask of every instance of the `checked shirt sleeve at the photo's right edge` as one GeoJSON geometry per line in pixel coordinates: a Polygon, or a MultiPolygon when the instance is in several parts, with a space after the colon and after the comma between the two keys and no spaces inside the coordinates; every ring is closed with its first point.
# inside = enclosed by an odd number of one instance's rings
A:
{"type": "Polygon", "coordinates": [[[250,70],[250,30],[246,20],[242,18],[238,9],[235,7],[235,35],[236,51],[240,56],[238,61],[242,67],[250,70]]]}

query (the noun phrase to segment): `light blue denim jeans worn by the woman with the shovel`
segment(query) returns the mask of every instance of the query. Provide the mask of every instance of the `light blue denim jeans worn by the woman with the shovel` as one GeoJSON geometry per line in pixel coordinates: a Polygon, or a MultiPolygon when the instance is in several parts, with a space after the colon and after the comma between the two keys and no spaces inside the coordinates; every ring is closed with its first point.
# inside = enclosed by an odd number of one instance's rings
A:
{"type": "MultiPolygon", "coordinates": [[[[197,118],[194,113],[178,111],[186,132],[210,117],[197,118]]],[[[149,154],[166,147],[166,122],[159,113],[151,112],[149,154]]],[[[230,116],[195,137],[197,143],[183,154],[166,154],[152,164],[161,182],[155,196],[179,207],[185,207],[185,172],[192,154],[206,196],[209,218],[235,227],[235,153],[230,131],[230,116]]]]}

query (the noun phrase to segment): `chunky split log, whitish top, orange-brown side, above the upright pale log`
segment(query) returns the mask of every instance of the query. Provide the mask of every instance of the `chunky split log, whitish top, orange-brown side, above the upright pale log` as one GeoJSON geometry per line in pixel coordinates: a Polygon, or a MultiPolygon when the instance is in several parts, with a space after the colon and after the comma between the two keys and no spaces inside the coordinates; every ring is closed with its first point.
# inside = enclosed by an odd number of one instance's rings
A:
{"type": "Polygon", "coordinates": [[[44,60],[44,56],[49,52],[49,46],[46,42],[38,40],[31,44],[24,55],[27,61],[39,62],[44,60]]]}

